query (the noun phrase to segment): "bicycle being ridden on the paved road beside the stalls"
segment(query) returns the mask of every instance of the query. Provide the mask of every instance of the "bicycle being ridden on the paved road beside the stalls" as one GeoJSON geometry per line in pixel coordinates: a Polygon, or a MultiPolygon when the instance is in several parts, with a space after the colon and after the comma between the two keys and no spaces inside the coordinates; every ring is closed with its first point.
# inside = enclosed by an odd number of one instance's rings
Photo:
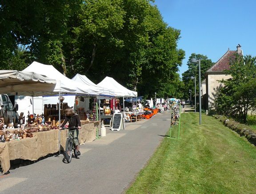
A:
{"type": "Polygon", "coordinates": [[[77,130],[78,127],[68,128],[68,137],[66,141],[66,149],[65,149],[65,158],[68,163],[71,162],[72,159],[72,150],[74,150],[74,156],[77,158],[77,150],[74,142],[74,131],[77,130]]]}

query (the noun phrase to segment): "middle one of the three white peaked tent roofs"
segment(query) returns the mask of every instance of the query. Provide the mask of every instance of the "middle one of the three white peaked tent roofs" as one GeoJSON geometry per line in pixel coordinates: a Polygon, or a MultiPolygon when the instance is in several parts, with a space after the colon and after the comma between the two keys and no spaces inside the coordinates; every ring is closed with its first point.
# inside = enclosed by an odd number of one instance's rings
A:
{"type": "Polygon", "coordinates": [[[101,96],[115,96],[115,91],[114,90],[97,86],[90,79],[88,79],[85,75],[76,74],[72,78],[72,80],[74,80],[76,82],[79,82],[79,83],[82,83],[82,84],[85,84],[85,85],[88,85],[88,86],[97,87],[100,91],[101,96]]]}

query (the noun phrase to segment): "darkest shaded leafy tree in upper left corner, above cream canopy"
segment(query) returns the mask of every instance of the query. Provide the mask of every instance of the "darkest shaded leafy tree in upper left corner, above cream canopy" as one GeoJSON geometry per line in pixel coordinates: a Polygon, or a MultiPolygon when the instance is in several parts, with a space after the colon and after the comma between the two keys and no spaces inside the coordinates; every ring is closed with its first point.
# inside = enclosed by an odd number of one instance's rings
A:
{"type": "Polygon", "coordinates": [[[82,0],[1,0],[1,64],[5,68],[12,68],[7,64],[8,59],[17,45],[26,45],[37,61],[52,64],[63,72],[63,43],[68,40],[67,23],[81,3],[82,0]]]}

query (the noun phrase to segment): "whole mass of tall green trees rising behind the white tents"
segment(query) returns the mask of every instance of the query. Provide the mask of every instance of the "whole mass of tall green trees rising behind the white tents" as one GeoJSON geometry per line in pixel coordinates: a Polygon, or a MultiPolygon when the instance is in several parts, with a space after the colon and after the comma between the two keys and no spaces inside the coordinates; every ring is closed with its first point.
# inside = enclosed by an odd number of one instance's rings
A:
{"type": "Polygon", "coordinates": [[[0,69],[36,60],[72,78],[116,79],[138,95],[181,98],[184,51],[151,0],[1,0],[0,69]]]}

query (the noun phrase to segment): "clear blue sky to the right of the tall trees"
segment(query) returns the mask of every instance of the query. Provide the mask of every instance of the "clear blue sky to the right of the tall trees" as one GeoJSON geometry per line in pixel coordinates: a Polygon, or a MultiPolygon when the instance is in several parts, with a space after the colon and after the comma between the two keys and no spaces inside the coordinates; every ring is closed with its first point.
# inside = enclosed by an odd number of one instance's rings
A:
{"type": "Polygon", "coordinates": [[[244,55],[256,56],[256,0],[155,0],[170,27],[181,31],[178,48],[186,56],[181,74],[192,53],[216,62],[241,45],[244,55]]]}

